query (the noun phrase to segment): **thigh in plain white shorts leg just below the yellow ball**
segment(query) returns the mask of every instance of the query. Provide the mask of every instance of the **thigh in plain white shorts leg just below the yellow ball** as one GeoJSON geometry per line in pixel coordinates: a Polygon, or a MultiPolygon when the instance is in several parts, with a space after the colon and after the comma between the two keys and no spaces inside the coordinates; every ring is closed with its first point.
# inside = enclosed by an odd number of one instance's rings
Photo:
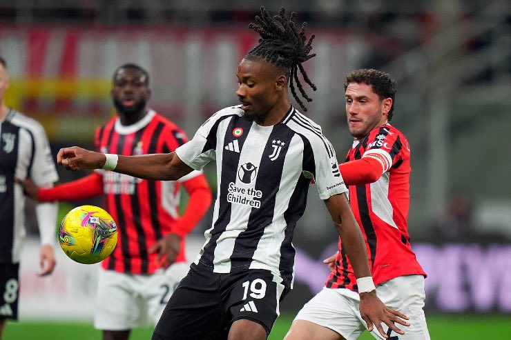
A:
{"type": "Polygon", "coordinates": [[[144,305],[129,274],[99,270],[94,327],[99,330],[128,330],[140,326],[144,305]]]}

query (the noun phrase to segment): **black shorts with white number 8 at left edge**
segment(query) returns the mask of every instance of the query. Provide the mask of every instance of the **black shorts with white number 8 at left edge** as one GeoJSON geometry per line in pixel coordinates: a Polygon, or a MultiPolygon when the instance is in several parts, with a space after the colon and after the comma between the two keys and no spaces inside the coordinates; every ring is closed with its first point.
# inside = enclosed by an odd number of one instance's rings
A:
{"type": "Polygon", "coordinates": [[[0,319],[18,319],[19,263],[0,263],[0,319]]]}

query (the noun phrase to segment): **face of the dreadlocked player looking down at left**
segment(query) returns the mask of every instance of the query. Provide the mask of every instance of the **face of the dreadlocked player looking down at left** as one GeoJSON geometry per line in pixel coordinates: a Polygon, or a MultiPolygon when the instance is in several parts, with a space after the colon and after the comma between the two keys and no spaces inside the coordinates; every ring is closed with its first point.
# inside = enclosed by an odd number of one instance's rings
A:
{"type": "Polygon", "coordinates": [[[276,86],[276,69],[267,61],[243,59],[238,65],[238,90],[236,95],[245,115],[255,121],[264,121],[276,106],[280,91],[276,86]]]}

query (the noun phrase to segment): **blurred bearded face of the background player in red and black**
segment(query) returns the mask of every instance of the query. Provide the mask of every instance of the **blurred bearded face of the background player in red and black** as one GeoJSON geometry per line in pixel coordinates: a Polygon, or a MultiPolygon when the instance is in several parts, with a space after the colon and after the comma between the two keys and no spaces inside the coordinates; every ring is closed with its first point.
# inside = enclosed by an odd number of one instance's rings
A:
{"type": "Polygon", "coordinates": [[[132,116],[146,108],[151,90],[142,72],[136,68],[122,68],[115,74],[110,94],[117,112],[132,116]]]}

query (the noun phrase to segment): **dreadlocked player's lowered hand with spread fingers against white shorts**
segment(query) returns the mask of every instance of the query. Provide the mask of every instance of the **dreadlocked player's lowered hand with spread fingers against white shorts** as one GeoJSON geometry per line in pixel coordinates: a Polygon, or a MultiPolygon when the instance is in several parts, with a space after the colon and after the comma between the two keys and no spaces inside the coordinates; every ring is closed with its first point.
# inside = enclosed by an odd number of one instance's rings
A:
{"type": "Polygon", "coordinates": [[[376,290],[360,293],[359,308],[362,319],[367,323],[367,330],[372,332],[373,328],[376,327],[382,337],[388,338],[388,335],[385,334],[381,323],[385,323],[391,330],[401,335],[405,334],[405,332],[398,328],[395,323],[409,326],[409,323],[405,321],[409,320],[409,318],[397,310],[387,308],[376,296],[376,290]]]}

